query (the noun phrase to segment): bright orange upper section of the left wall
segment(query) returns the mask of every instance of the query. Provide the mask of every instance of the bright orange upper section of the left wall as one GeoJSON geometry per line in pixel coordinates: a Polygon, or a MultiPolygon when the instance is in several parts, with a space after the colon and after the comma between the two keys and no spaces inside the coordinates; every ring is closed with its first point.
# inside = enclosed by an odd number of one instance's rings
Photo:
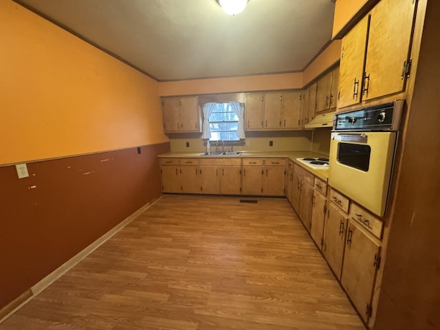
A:
{"type": "Polygon", "coordinates": [[[0,1],[0,164],[168,142],[158,83],[0,1]]]}

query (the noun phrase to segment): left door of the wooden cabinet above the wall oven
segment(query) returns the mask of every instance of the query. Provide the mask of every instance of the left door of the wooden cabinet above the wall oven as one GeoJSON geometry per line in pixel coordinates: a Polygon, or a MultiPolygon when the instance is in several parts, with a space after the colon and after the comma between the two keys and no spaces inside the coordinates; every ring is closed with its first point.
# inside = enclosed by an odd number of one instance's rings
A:
{"type": "Polygon", "coordinates": [[[369,15],[364,17],[358,25],[342,38],[339,67],[339,108],[359,103],[361,100],[369,20],[369,15]]]}

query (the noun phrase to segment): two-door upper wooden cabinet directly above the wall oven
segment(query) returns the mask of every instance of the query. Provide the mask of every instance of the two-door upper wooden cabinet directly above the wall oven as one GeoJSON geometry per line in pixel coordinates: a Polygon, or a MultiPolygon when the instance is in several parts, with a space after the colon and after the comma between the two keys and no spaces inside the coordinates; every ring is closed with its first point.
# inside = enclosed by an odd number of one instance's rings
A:
{"type": "Polygon", "coordinates": [[[382,0],[342,39],[338,107],[404,91],[414,0],[382,0]]]}

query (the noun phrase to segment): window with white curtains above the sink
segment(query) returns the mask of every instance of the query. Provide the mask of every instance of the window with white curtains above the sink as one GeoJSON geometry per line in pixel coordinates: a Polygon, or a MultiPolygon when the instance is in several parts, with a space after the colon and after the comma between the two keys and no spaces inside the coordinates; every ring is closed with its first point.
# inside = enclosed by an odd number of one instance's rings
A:
{"type": "Polygon", "coordinates": [[[203,104],[202,138],[232,143],[243,140],[243,112],[244,104],[239,102],[203,104]]]}

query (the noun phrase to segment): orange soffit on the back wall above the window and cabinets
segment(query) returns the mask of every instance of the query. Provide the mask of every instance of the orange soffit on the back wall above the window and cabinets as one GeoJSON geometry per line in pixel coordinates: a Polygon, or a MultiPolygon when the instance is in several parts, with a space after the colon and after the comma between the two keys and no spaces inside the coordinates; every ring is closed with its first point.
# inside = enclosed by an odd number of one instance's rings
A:
{"type": "Polygon", "coordinates": [[[266,74],[159,83],[159,96],[300,89],[303,74],[266,74]]]}

